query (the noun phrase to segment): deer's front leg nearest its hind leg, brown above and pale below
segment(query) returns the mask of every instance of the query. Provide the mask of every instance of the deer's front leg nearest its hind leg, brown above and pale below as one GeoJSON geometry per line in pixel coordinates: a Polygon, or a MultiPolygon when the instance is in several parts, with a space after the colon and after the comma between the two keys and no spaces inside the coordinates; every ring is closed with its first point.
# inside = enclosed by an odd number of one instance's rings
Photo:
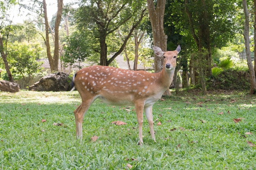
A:
{"type": "Polygon", "coordinates": [[[135,109],[136,109],[136,116],[139,124],[139,142],[138,145],[143,144],[142,139],[142,124],[143,124],[143,109],[144,109],[144,102],[138,102],[135,103],[135,109]]]}

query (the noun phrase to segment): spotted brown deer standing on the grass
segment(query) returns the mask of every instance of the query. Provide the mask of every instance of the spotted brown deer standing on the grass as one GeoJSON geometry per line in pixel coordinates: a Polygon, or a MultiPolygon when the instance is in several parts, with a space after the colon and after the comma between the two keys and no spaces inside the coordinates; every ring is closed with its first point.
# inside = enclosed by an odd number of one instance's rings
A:
{"type": "Polygon", "coordinates": [[[76,89],[82,99],[81,104],[74,110],[76,138],[83,139],[84,115],[92,102],[98,98],[108,105],[135,106],[139,125],[138,145],[143,144],[142,124],[145,111],[151,138],[156,142],[153,129],[153,105],[162,97],[173,81],[176,58],[180,50],[180,45],[176,50],[166,52],[153,46],[154,53],[158,57],[164,58],[163,69],[157,73],[100,65],[89,66],[76,72],[72,78],[72,90],[70,91],[76,89]]]}

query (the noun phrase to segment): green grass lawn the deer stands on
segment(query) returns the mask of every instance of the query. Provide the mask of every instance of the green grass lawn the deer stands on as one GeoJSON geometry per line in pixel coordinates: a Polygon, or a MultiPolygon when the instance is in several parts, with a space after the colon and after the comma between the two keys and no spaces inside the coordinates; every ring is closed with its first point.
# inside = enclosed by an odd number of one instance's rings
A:
{"type": "Polygon", "coordinates": [[[0,92],[0,169],[116,170],[128,169],[127,163],[147,170],[256,169],[256,147],[247,144],[256,144],[255,96],[186,92],[159,100],[153,106],[157,143],[144,117],[143,146],[137,145],[133,107],[126,111],[99,100],[85,115],[83,141],[76,140],[73,111],[80,102],[76,91],[0,92]],[[117,120],[127,124],[111,124],[117,120]]]}

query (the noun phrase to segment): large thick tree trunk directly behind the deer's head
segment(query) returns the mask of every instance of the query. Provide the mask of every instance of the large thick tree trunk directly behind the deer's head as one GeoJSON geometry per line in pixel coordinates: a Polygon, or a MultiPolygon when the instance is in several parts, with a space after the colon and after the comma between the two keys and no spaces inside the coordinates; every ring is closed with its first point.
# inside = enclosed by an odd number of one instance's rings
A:
{"type": "MultiPolygon", "coordinates": [[[[167,35],[164,33],[164,9],[166,0],[157,0],[155,7],[154,0],[147,0],[148,13],[153,31],[154,46],[167,50],[167,35]]],[[[155,72],[160,72],[163,69],[164,60],[162,57],[158,57],[154,54],[155,72]]],[[[166,89],[164,95],[171,95],[169,89],[166,89]]]]}

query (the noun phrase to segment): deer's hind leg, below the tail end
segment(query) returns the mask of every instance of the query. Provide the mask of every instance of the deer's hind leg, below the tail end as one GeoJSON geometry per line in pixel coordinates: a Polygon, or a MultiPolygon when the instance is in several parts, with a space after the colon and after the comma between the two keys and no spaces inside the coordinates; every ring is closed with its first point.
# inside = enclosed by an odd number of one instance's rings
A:
{"type": "Polygon", "coordinates": [[[74,111],[75,120],[76,120],[76,138],[77,139],[83,139],[83,131],[82,131],[82,125],[83,125],[83,116],[88,111],[88,108],[92,104],[92,101],[82,101],[81,105],[77,107],[74,111]]]}

